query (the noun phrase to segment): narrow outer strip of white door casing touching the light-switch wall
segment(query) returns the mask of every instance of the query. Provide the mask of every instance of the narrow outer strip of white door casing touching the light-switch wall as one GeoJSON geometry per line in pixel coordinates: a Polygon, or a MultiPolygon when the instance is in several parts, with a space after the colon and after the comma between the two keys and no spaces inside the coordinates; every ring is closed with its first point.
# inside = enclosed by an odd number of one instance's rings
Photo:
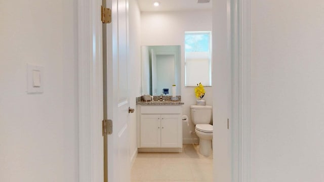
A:
{"type": "Polygon", "coordinates": [[[77,3],[78,19],[78,92],[79,92],[79,181],[91,181],[91,47],[90,8],[88,0],[77,3]]]}

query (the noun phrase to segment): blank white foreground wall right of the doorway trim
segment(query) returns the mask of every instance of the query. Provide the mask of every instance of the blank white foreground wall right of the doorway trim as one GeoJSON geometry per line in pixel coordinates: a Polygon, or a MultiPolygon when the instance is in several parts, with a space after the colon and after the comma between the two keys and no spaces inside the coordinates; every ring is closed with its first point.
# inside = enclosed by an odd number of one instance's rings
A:
{"type": "Polygon", "coordinates": [[[324,181],[324,1],[251,1],[251,181],[324,181]]]}

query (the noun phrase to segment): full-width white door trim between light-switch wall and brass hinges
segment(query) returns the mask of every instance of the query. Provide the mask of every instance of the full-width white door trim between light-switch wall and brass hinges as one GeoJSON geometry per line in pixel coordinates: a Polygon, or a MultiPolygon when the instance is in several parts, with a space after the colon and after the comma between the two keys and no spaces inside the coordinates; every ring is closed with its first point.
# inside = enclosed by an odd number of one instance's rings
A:
{"type": "Polygon", "coordinates": [[[101,1],[78,0],[79,181],[102,181],[101,1]]]}

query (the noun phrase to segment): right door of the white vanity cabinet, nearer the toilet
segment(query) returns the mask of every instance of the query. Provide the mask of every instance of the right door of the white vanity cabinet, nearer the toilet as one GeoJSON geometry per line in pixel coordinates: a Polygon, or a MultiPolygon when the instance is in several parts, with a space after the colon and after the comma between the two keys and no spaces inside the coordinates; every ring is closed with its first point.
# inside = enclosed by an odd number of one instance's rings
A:
{"type": "Polygon", "coordinates": [[[180,115],[161,115],[161,147],[181,148],[182,127],[180,115]]]}

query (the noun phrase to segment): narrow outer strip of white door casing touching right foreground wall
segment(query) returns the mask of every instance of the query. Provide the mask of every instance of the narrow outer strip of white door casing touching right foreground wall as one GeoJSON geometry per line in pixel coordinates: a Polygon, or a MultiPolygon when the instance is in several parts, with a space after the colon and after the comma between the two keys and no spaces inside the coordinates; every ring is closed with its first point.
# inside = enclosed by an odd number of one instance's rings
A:
{"type": "Polygon", "coordinates": [[[240,181],[250,182],[250,0],[240,3],[240,181]]]}

